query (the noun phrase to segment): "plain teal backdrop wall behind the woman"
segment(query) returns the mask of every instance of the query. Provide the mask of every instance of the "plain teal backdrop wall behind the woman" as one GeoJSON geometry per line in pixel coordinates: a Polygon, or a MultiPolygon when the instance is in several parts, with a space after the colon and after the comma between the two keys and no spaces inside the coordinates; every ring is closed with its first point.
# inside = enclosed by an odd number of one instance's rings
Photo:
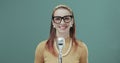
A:
{"type": "Polygon", "coordinates": [[[120,63],[120,0],[0,0],[0,63],[33,63],[58,4],[73,9],[89,63],[120,63]]]}

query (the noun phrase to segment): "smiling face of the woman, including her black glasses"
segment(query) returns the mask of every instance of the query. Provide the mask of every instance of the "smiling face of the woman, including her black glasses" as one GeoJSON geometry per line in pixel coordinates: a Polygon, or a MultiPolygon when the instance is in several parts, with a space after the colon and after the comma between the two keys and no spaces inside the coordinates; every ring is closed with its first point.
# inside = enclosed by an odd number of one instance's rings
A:
{"type": "Polygon", "coordinates": [[[54,12],[52,23],[57,32],[69,32],[73,25],[72,14],[66,9],[57,9],[54,12]]]}

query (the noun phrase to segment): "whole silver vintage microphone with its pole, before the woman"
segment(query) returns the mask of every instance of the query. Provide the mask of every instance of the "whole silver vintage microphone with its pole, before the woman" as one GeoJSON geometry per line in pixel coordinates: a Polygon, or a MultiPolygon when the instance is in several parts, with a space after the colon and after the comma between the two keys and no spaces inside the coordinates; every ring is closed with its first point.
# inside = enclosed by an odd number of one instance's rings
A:
{"type": "Polygon", "coordinates": [[[65,39],[63,37],[57,38],[57,48],[59,50],[58,63],[62,63],[62,49],[65,46],[65,39]]]}

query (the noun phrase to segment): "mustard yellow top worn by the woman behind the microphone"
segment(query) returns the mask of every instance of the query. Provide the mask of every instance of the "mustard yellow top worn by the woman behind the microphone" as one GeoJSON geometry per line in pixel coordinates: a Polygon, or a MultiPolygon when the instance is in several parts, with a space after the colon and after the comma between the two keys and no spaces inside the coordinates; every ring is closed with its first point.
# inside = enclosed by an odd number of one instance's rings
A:
{"type": "MultiPolygon", "coordinates": [[[[88,49],[85,43],[78,42],[78,48],[75,51],[73,45],[68,55],[62,57],[62,63],[88,63],[88,49]]],[[[58,57],[52,55],[48,50],[45,49],[46,41],[42,41],[36,47],[34,63],[58,63],[58,57]]],[[[69,44],[69,43],[68,43],[69,44]]],[[[69,45],[66,44],[67,50],[69,45]]],[[[63,50],[63,53],[66,52],[63,50]]]]}

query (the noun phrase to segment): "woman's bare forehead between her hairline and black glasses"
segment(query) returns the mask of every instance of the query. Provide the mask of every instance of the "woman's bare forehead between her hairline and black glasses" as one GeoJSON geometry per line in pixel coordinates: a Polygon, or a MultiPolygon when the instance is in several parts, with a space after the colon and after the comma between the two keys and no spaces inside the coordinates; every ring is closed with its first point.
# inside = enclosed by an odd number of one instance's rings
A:
{"type": "Polygon", "coordinates": [[[54,16],[66,16],[66,15],[71,15],[70,11],[68,11],[67,9],[60,8],[54,12],[54,16]]]}

